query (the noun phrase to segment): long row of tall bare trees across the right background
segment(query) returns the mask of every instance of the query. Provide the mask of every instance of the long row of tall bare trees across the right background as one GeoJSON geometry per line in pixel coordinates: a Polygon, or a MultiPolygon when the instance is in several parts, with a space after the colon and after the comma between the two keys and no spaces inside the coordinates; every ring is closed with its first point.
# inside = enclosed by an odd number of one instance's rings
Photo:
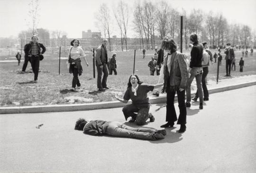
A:
{"type": "Polygon", "coordinates": [[[252,32],[247,25],[229,24],[222,14],[214,14],[212,11],[206,13],[193,9],[189,14],[184,9],[178,11],[164,0],[157,3],[137,1],[133,9],[123,0],[112,6],[112,10],[107,4],[101,4],[95,14],[95,23],[102,29],[103,35],[109,38],[116,29],[115,26],[118,26],[120,43],[123,46],[125,42],[126,47],[128,28],[133,27],[140,44],[149,48],[160,44],[159,40],[164,37],[173,37],[181,44],[180,16],[183,16],[182,44],[186,46],[192,33],[196,33],[201,41],[207,41],[211,46],[224,46],[228,42],[233,46],[256,46],[256,32],[252,32]],[[115,21],[111,20],[112,16],[115,21]]]}

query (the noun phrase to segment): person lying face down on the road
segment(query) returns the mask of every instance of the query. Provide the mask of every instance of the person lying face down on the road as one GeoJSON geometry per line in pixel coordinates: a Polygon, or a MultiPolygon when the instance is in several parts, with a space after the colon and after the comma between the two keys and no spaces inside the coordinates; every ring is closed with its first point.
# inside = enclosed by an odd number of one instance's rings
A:
{"type": "Polygon", "coordinates": [[[87,120],[79,118],[75,124],[75,130],[82,130],[83,133],[93,136],[112,136],[112,137],[129,137],[143,140],[164,139],[165,129],[156,130],[154,128],[129,127],[118,121],[87,120]]]}

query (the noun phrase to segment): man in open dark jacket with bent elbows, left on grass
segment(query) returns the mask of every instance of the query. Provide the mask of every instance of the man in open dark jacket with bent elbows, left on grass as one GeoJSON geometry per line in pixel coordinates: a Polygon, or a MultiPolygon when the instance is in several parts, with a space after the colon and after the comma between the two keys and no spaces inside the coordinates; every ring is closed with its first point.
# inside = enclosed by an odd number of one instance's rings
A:
{"type": "MultiPolygon", "coordinates": [[[[39,72],[39,64],[40,64],[40,55],[43,55],[46,52],[46,47],[42,43],[38,43],[38,37],[32,36],[32,41],[25,45],[24,52],[25,52],[25,61],[29,61],[32,66],[32,70],[34,73],[34,82],[37,83],[37,77],[39,72]],[[42,48],[42,52],[41,52],[42,48]]],[[[27,64],[24,61],[22,72],[25,72],[27,64]]]]}

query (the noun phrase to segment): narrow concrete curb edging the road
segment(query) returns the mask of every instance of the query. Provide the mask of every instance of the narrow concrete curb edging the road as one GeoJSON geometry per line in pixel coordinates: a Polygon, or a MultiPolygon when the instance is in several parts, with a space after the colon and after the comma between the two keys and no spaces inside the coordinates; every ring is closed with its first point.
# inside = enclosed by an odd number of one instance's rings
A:
{"type": "MultiPolygon", "coordinates": [[[[256,81],[254,82],[246,82],[240,83],[237,85],[230,85],[226,87],[216,87],[208,90],[209,94],[213,94],[216,92],[223,92],[229,90],[235,90],[243,87],[248,87],[256,85],[256,81]]],[[[191,97],[193,97],[195,92],[191,93],[191,97]]],[[[177,96],[175,96],[175,101],[177,100],[177,96]]],[[[130,102],[130,101],[129,101],[130,102]]],[[[151,97],[150,103],[165,103],[166,95],[162,95],[159,97],[151,97]]],[[[44,106],[20,106],[20,107],[2,107],[0,108],[0,114],[18,114],[18,113],[39,113],[39,112],[64,112],[64,111],[78,111],[78,110],[94,110],[94,109],[110,109],[110,108],[120,108],[123,107],[124,103],[119,101],[107,101],[107,102],[99,102],[99,103],[83,103],[83,104],[69,104],[69,105],[44,105],[44,106]]]]}

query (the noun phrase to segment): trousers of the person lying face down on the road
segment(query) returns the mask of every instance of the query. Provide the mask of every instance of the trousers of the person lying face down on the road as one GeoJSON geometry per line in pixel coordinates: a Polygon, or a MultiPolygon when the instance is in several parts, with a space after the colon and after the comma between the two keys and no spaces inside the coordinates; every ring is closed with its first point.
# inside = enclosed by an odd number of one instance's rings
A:
{"type": "Polygon", "coordinates": [[[155,129],[146,127],[133,128],[117,121],[110,122],[109,126],[107,127],[107,134],[114,137],[130,137],[153,141],[156,140],[154,137],[155,129]]]}

